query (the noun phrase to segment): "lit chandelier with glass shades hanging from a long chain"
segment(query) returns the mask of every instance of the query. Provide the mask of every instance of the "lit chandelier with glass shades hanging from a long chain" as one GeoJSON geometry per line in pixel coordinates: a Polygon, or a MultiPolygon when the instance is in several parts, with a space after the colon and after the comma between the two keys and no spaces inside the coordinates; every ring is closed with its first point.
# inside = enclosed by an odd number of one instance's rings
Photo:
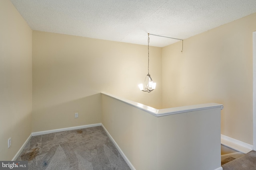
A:
{"type": "Polygon", "coordinates": [[[150,74],[149,74],[149,33],[148,33],[148,75],[146,75],[144,85],[139,84],[138,85],[140,90],[143,92],[152,92],[154,89],[156,89],[156,83],[153,82],[150,74]]]}

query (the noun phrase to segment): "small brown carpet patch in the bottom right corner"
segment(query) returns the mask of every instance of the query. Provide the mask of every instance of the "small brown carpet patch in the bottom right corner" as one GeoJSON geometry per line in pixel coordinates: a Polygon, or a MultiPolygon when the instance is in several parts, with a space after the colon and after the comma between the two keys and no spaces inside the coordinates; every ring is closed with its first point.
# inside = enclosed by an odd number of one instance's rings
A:
{"type": "Polygon", "coordinates": [[[223,170],[256,170],[256,151],[251,152],[236,158],[224,165],[223,170]]]}

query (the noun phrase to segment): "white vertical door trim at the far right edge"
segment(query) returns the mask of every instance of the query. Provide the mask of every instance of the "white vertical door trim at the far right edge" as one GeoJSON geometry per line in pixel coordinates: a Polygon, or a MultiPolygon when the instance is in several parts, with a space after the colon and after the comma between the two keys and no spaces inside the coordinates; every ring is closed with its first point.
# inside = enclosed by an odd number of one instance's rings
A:
{"type": "Polygon", "coordinates": [[[256,31],[252,33],[252,122],[253,150],[256,150],[256,31]]]}

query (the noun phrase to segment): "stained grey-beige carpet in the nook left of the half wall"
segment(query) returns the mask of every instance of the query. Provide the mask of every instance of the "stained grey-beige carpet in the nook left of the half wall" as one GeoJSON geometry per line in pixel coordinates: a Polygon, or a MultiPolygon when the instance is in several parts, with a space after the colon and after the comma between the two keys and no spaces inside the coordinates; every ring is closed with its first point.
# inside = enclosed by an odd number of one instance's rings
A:
{"type": "Polygon", "coordinates": [[[34,136],[19,160],[29,170],[130,170],[101,126],[34,136]]]}

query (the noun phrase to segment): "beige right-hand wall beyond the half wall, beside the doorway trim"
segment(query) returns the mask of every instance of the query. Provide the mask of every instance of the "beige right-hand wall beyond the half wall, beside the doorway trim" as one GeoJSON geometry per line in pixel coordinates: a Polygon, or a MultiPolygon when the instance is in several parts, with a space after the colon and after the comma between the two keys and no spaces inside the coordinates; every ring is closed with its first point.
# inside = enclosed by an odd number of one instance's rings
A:
{"type": "Polygon", "coordinates": [[[162,49],[163,107],[224,105],[221,133],[252,145],[256,13],[162,49]]]}

